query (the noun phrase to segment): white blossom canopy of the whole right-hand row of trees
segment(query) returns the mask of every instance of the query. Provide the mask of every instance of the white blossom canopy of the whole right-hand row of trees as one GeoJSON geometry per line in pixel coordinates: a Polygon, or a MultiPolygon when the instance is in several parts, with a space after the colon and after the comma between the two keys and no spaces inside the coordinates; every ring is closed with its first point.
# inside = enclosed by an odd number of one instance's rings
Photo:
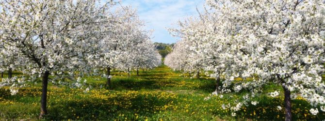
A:
{"type": "MultiPolygon", "coordinates": [[[[180,21],[180,29],[169,29],[180,41],[166,58],[168,66],[213,72],[210,76],[218,82],[218,93],[249,90],[254,97],[262,92],[256,89],[276,84],[283,88],[285,102],[299,95],[314,107],[325,105],[321,77],[325,71],[324,0],[206,3],[209,11],[200,13],[199,18],[180,21]],[[238,77],[250,81],[235,80],[238,77]]],[[[276,97],[279,92],[270,96],[276,97]]],[[[250,102],[244,98],[235,102],[250,102]]],[[[232,111],[237,107],[231,107],[232,111]]],[[[289,113],[286,116],[291,116],[289,113]]]]}

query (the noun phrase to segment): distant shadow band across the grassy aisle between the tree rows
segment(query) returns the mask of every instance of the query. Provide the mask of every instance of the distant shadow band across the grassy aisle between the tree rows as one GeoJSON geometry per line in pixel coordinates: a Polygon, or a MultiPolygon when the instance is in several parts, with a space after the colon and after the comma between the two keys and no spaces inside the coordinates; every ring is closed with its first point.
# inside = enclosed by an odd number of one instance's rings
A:
{"type": "Polygon", "coordinates": [[[212,92],[216,89],[213,79],[165,78],[163,76],[143,76],[139,78],[115,78],[111,90],[195,90],[212,92]]]}

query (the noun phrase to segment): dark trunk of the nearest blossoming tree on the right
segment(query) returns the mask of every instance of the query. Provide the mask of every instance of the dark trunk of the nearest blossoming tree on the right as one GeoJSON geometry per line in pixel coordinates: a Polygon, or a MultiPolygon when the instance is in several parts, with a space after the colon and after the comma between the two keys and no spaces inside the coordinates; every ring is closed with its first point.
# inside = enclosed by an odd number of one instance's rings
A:
{"type": "Polygon", "coordinates": [[[291,98],[290,94],[291,92],[289,91],[288,88],[282,86],[284,89],[284,107],[286,110],[286,118],[285,121],[292,121],[292,111],[291,111],[291,98]]]}

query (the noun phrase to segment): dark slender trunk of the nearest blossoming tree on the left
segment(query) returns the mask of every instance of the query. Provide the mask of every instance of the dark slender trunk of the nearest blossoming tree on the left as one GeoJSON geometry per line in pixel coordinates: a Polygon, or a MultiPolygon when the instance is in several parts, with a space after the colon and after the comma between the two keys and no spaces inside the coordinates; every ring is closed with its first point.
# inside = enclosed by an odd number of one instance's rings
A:
{"type": "Polygon", "coordinates": [[[42,78],[41,113],[39,115],[39,118],[43,118],[45,115],[48,114],[48,110],[46,107],[47,96],[48,96],[47,95],[48,81],[49,81],[49,71],[45,71],[45,73],[43,73],[43,78],[42,78]]]}

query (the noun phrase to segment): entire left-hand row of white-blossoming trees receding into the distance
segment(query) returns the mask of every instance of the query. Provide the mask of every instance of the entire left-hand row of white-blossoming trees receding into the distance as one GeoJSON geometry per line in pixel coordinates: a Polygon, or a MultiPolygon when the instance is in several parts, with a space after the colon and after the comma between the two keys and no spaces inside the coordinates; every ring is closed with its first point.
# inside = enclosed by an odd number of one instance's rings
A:
{"type": "Polygon", "coordinates": [[[0,9],[0,71],[24,74],[2,79],[0,87],[11,86],[15,94],[40,78],[40,117],[48,113],[49,81],[81,88],[82,76],[100,75],[109,87],[112,68],[161,63],[136,11],[113,0],[1,0],[0,9]]]}

